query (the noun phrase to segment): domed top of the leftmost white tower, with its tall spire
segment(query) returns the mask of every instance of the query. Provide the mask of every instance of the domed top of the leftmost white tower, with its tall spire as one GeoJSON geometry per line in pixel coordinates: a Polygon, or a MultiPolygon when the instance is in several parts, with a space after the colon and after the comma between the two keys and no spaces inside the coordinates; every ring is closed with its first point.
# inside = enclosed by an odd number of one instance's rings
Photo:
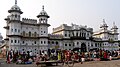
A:
{"type": "Polygon", "coordinates": [[[15,0],[15,5],[11,7],[10,10],[8,10],[10,13],[9,19],[10,20],[20,20],[20,15],[23,13],[19,6],[17,6],[17,0],[15,0]]]}

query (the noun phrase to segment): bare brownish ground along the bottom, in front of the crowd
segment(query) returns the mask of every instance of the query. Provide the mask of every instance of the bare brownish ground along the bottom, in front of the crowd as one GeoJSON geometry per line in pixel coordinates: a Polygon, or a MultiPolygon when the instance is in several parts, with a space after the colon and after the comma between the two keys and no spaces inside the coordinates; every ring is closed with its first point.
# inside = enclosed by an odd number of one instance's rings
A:
{"type": "MultiPolygon", "coordinates": [[[[40,67],[35,64],[30,65],[16,65],[16,64],[5,64],[3,61],[0,61],[0,67],[40,67]]],[[[60,66],[51,66],[51,67],[60,67],[60,66]]],[[[66,65],[64,67],[67,67],[66,65]]],[[[75,63],[74,67],[120,67],[120,60],[112,60],[112,61],[91,61],[75,63]]]]}

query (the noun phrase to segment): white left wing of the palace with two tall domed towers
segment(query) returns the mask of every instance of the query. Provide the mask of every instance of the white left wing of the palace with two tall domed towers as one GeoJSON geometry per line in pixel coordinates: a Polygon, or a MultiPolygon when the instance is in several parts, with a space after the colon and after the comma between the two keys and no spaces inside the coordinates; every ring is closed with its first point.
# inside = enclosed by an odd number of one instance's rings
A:
{"type": "Polygon", "coordinates": [[[48,49],[48,27],[50,24],[48,21],[48,14],[44,10],[37,15],[36,19],[22,18],[20,7],[15,3],[14,6],[8,10],[9,14],[5,18],[7,22],[6,29],[6,44],[9,46],[9,50],[18,51],[32,51],[38,53],[39,50],[48,49]]]}

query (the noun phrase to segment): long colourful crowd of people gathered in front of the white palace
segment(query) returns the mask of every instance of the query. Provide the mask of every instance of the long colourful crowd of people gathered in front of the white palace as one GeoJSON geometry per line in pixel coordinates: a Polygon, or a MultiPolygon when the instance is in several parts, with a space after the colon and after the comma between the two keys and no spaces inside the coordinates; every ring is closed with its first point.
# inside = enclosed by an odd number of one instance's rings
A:
{"type": "Polygon", "coordinates": [[[39,62],[39,61],[48,61],[48,60],[74,60],[77,62],[83,63],[83,61],[87,60],[111,60],[112,57],[117,57],[120,55],[120,51],[107,51],[107,50],[93,50],[89,52],[79,52],[79,51],[71,51],[71,50],[58,50],[55,53],[37,53],[36,55],[32,55],[32,51],[29,52],[14,52],[9,51],[6,55],[7,63],[23,63],[23,64],[30,64],[32,62],[39,62]]]}

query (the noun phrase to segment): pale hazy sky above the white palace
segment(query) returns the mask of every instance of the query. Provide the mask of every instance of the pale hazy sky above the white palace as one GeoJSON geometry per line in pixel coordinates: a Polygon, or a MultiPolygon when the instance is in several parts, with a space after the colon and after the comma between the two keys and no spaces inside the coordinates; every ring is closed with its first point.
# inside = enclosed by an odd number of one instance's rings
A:
{"type": "MultiPolygon", "coordinates": [[[[0,1],[0,33],[6,37],[6,18],[8,10],[15,4],[15,0],[0,1]]],[[[113,22],[120,32],[120,0],[17,0],[17,5],[23,11],[22,18],[37,19],[42,10],[42,5],[50,16],[48,23],[49,33],[61,24],[87,25],[94,31],[99,30],[100,24],[105,19],[110,29],[113,22]]]]}

